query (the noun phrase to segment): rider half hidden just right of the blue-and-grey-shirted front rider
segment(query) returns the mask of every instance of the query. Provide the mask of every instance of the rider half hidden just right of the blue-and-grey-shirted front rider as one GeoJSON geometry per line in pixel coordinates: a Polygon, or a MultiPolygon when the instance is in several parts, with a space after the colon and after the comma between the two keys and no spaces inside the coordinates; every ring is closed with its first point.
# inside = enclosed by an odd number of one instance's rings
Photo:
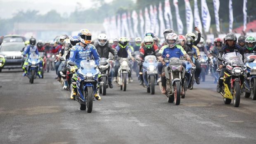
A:
{"type": "MultiPolygon", "coordinates": [[[[187,46],[189,46],[190,49],[194,52],[194,58],[201,59],[199,49],[194,45],[194,39],[191,36],[187,36],[186,40],[187,40],[187,46]]],[[[201,73],[201,63],[197,59],[194,60],[195,61],[194,65],[196,66],[194,78],[196,79],[196,83],[199,85],[200,84],[199,76],[201,73]]]]}

